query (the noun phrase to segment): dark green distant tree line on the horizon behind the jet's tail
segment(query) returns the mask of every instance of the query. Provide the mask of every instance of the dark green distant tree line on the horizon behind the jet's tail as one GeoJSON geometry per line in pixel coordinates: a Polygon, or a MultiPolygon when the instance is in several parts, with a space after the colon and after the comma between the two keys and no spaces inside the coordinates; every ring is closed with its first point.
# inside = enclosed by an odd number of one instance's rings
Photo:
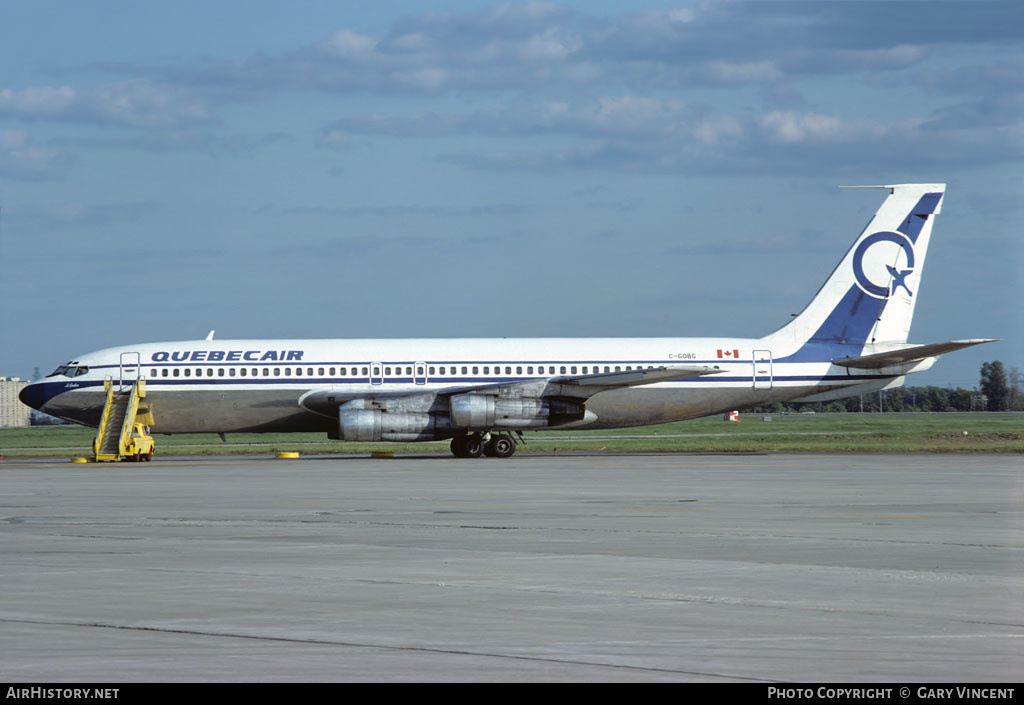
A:
{"type": "Polygon", "coordinates": [[[1009,372],[996,360],[981,366],[975,389],[941,386],[902,386],[870,391],[835,402],[788,402],[755,407],[755,413],[786,411],[876,412],[883,411],[1024,411],[1024,374],[1016,367],[1009,372]]]}

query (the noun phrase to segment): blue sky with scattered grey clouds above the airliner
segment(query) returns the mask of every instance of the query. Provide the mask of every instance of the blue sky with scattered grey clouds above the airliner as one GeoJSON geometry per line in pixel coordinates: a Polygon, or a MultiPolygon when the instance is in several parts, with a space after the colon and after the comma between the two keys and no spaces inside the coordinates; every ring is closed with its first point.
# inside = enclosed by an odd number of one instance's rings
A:
{"type": "MultiPolygon", "coordinates": [[[[642,0],[641,0],[642,2],[642,0]]],[[[0,10],[0,375],[205,337],[760,336],[948,183],[918,383],[1024,369],[1024,3],[0,10]]]]}

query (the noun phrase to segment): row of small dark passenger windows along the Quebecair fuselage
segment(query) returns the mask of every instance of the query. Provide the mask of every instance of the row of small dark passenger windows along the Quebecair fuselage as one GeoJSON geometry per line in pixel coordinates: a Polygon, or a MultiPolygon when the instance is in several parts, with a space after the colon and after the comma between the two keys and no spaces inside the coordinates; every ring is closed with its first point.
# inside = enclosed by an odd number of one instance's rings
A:
{"type": "MultiPolygon", "coordinates": [[[[653,365],[648,365],[648,369],[653,368],[653,365]]],[[[153,370],[152,377],[213,377],[214,369],[217,370],[216,375],[218,377],[292,377],[293,372],[296,377],[369,377],[371,375],[370,367],[263,367],[263,368],[250,368],[250,367],[218,367],[218,368],[162,368],[159,370],[153,370]],[[315,370],[315,373],[314,373],[315,370]]],[[[450,377],[457,375],[500,375],[500,374],[516,374],[516,375],[553,375],[553,374],[600,374],[601,372],[622,372],[632,371],[634,369],[633,365],[516,365],[515,367],[511,365],[506,365],[504,368],[500,365],[442,365],[442,366],[429,366],[427,368],[417,366],[416,376],[423,377],[425,374],[429,374],[431,377],[450,377]],[[513,369],[515,372],[513,373],[513,369]],[[503,372],[504,370],[504,372],[503,372]]],[[[635,366],[635,369],[642,370],[642,365],[635,366]]],[[[384,366],[383,368],[374,366],[373,376],[379,377],[383,374],[384,377],[394,377],[394,376],[413,376],[413,367],[392,367],[384,366]],[[382,372],[383,369],[383,372],[382,372]]]]}

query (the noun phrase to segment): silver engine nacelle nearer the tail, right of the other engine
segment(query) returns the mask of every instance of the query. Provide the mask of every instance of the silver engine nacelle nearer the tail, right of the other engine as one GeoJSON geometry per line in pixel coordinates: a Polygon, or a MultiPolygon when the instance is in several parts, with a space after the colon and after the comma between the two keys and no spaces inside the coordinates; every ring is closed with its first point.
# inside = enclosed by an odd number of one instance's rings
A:
{"type": "Polygon", "coordinates": [[[560,399],[502,399],[493,395],[455,395],[451,402],[456,428],[543,428],[584,418],[582,404],[560,399]]]}

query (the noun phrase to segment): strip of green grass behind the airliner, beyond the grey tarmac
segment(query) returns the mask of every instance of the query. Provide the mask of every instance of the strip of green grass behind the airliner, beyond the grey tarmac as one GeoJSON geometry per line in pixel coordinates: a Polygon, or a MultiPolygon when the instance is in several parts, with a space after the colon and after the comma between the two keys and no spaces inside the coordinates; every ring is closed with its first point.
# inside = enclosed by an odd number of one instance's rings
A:
{"type": "MultiPolygon", "coordinates": [[[[0,429],[4,457],[90,455],[95,430],[81,426],[0,429]]],[[[720,417],[659,426],[525,434],[519,452],[991,452],[1024,453],[1022,413],[746,414],[739,423],[720,417]],[[770,421],[763,420],[770,418],[770,421]]],[[[355,444],[323,433],[185,433],[156,436],[158,455],[352,454],[447,452],[447,442],[355,444]]]]}

